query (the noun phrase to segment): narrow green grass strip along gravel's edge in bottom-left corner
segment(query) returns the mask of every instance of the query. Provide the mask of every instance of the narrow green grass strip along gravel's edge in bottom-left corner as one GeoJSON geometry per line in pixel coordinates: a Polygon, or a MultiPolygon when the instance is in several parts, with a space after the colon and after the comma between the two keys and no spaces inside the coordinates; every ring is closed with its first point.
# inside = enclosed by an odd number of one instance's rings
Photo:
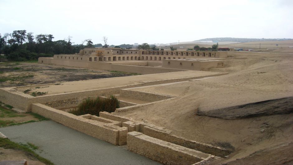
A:
{"type": "Polygon", "coordinates": [[[54,165],[54,163],[52,163],[50,160],[45,159],[45,158],[41,157],[40,155],[36,154],[29,147],[18,144],[18,143],[14,143],[14,142],[10,141],[9,139],[0,138],[0,147],[3,147],[5,149],[21,150],[21,151],[25,152],[28,157],[36,158],[40,162],[45,163],[47,165],[54,165]]]}

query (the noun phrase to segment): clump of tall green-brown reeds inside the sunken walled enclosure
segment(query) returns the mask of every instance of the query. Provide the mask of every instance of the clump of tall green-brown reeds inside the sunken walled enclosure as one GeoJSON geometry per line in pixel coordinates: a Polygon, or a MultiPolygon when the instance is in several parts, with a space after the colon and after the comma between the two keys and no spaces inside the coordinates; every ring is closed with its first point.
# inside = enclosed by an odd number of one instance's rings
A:
{"type": "Polygon", "coordinates": [[[114,112],[116,108],[119,108],[119,104],[119,100],[113,95],[105,98],[88,97],[87,99],[79,103],[78,107],[71,111],[71,113],[77,116],[84,114],[99,116],[99,112],[114,112]]]}

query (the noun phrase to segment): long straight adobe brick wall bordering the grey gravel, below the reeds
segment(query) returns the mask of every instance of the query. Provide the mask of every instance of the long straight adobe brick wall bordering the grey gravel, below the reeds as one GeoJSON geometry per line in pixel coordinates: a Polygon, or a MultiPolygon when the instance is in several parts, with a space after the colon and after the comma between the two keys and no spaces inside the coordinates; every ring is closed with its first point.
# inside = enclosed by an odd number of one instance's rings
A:
{"type": "Polygon", "coordinates": [[[125,127],[119,127],[111,123],[106,124],[97,120],[86,119],[84,117],[54,109],[40,103],[32,104],[31,111],[69,128],[114,145],[125,145],[127,143],[127,128],[125,127]]]}

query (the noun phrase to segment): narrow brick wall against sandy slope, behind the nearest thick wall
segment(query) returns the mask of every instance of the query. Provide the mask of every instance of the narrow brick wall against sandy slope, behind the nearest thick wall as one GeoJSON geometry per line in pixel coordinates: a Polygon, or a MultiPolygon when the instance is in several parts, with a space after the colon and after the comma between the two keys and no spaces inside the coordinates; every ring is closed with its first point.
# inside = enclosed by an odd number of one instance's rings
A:
{"type": "Polygon", "coordinates": [[[149,126],[145,126],[143,128],[143,133],[153,138],[158,138],[170,143],[184,146],[186,148],[195,149],[195,150],[198,150],[204,153],[209,153],[219,157],[224,157],[231,153],[231,151],[224,148],[215,147],[205,143],[198,143],[196,141],[188,140],[185,138],[180,138],[175,135],[171,135],[170,134],[171,132],[167,132],[166,130],[159,130],[149,126]]]}

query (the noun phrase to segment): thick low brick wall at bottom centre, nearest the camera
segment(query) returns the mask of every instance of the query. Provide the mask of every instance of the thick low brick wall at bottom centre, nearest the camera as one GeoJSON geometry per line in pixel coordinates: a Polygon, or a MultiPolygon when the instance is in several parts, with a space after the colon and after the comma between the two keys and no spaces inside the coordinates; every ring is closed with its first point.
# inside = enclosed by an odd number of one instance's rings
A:
{"type": "Polygon", "coordinates": [[[135,131],[127,133],[127,149],[162,164],[172,165],[191,165],[212,157],[135,131]]]}

